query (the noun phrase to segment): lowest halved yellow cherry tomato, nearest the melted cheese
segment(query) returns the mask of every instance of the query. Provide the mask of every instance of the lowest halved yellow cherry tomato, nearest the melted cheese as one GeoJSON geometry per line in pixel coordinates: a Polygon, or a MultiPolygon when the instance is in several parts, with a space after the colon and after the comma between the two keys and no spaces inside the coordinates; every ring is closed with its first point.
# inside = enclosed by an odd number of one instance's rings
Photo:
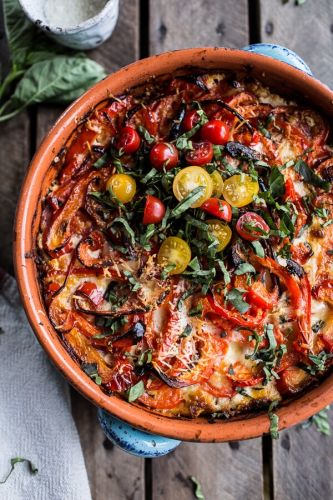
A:
{"type": "Polygon", "coordinates": [[[174,264],[169,274],[180,274],[191,261],[191,249],[186,241],[177,236],[166,238],[157,254],[157,262],[162,267],[174,264]]]}

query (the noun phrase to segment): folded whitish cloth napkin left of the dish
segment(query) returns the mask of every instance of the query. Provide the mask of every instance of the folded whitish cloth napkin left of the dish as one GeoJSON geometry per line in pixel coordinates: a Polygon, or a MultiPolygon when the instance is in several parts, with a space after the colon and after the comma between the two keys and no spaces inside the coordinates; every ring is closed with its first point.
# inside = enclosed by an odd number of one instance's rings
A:
{"type": "Polygon", "coordinates": [[[0,275],[0,481],[22,457],[1,500],[90,500],[69,389],[33,335],[15,280],[0,275]]]}

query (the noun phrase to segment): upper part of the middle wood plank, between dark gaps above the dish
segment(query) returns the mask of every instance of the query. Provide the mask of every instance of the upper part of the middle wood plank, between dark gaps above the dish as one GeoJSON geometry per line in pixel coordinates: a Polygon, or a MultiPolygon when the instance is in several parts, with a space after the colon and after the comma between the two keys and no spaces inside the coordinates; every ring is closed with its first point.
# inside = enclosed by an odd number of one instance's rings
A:
{"type": "Polygon", "coordinates": [[[248,43],[247,0],[153,0],[150,53],[186,47],[242,47],[248,43]]]}

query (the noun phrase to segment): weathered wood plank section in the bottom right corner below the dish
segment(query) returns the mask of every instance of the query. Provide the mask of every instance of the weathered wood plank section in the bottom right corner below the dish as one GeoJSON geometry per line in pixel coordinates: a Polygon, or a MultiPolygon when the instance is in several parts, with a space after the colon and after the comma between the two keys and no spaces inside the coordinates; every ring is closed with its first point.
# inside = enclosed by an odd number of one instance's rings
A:
{"type": "MultiPolygon", "coordinates": [[[[333,426],[333,413],[330,415],[333,426]]],[[[275,500],[322,500],[333,498],[333,436],[314,426],[296,426],[281,432],[273,444],[275,500]]]]}

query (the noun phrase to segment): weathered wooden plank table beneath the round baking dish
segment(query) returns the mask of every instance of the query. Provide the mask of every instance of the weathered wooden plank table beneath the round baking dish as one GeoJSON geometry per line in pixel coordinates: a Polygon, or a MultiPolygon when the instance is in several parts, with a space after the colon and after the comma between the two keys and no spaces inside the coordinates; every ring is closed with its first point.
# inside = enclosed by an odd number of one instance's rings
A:
{"type": "MultiPolygon", "coordinates": [[[[331,0],[307,0],[298,7],[294,0],[285,5],[282,0],[120,0],[120,4],[112,38],[91,54],[110,73],[166,50],[266,41],[295,50],[318,78],[333,85],[331,0]]],[[[40,106],[0,127],[0,262],[9,272],[13,272],[12,226],[22,177],[60,111],[40,106]]],[[[200,480],[208,500],[333,498],[333,438],[314,428],[284,431],[274,442],[264,437],[224,444],[186,443],[166,457],[144,460],[110,446],[97,424],[96,409],[74,391],[72,401],[95,500],[192,499],[191,475],[200,480]]]]}

